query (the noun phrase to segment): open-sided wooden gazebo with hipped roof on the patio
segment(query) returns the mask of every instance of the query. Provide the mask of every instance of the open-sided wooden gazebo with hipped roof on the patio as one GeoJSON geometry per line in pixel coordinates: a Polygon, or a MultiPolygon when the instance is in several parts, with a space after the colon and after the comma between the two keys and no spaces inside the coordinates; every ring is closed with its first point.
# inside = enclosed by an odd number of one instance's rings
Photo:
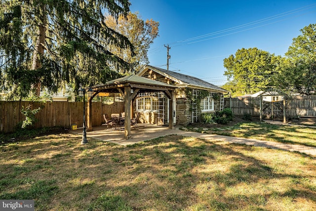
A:
{"type": "Polygon", "coordinates": [[[92,130],[92,99],[99,93],[115,94],[119,93],[124,100],[124,132],[125,138],[131,138],[130,120],[131,120],[131,106],[137,94],[143,92],[163,92],[170,100],[169,106],[169,128],[173,127],[173,104],[175,103],[174,90],[177,88],[175,85],[165,84],[159,81],[154,81],[137,75],[125,76],[123,78],[109,81],[105,84],[91,86],[93,94],[88,98],[87,105],[87,129],[92,130]]]}

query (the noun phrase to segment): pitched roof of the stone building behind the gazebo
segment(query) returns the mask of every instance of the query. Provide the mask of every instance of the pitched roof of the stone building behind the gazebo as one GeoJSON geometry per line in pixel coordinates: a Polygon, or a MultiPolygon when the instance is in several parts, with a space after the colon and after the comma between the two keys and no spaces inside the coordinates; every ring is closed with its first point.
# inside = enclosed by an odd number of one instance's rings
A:
{"type": "Polygon", "coordinates": [[[206,89],[206,90],[214,90],[214,91],[218,91],[218,92],[228,92],[227,90],[225,90],[217,85],[210,84],[210,83],[205,82],[205,81],[198,79],[196,77],[184,75],[184,74],[169,71],[169,70],[165,70],[165,69],[154,67],[151,65],[144,66],[137,73],[137,75],[139,75],[139,76],[143,75],[148,69],[153,70],[153,71],[157,72],[158,74],[176,82],[178,87],[192,87],[192,88],[200,88],[200,89],[206,89]]]}

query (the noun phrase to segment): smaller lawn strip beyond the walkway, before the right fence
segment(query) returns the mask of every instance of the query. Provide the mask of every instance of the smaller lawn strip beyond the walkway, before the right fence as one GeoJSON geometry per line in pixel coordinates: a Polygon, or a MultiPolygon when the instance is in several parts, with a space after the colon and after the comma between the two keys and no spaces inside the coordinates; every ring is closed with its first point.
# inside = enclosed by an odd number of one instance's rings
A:
{"type": "MultiPolygon", "coordinates": [[[[205,132],[202,127],[198,130],[194,127],[188,127],[188,129],[205,132]]],[[[316,128],[312,127],[273,125],[269,123],[239,123],[235,126],[209,128],[206,132],[316,147],[316,128]]]]}

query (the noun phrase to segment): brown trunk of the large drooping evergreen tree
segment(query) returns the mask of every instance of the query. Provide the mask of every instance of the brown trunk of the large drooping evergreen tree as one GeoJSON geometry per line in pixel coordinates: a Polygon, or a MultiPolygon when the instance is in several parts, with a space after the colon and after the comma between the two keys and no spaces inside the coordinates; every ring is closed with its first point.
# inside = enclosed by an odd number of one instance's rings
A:
{"type": "MultiPolygon", "coordinates": [[[[44,13],[45,5],[41,6],[42,12],[44,13]]],[[[33,64],[32,70],[38,70],[41,68],[40,57],[44,55],[45,50],[45,39],[46,39],[46,24],[47,20],[45,16],[41,17],[41,25],[39,26],[38,38],[36,41],[34,53],[33,53],[33,64]]],[[[37,76],[35,79],[35,84],[32,85],[33,91],[35,91],[36,96],[40,96],[41,79],[37,76]]]]}

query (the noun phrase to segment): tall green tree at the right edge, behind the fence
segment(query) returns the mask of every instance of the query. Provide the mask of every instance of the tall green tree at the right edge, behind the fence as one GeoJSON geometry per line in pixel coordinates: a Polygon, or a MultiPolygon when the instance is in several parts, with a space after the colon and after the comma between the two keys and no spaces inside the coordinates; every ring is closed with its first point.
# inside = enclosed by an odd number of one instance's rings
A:
{"type": "Polygon", "coordinates": [[[316,24],[301,29],[285,53],[276,84],[284,91],[316,94],[316,24]]]}

